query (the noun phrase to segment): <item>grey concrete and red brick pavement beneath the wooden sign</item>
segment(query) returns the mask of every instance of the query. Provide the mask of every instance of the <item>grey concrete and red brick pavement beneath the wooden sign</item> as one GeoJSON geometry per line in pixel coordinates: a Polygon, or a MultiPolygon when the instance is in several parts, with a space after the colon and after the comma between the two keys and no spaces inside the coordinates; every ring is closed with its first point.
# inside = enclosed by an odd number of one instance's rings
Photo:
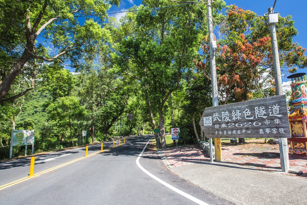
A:
{"type": "Polygon", "coordinates": [[[304,157],[289,156],[290,168],[304,172],[298,177],[279,172],[279,159],[273,151],[268,152],[269,158],[261,159],[256,152],[222,146],[223,162],[213,164],[198,147],[167,148],[162,152],[174,174],[236,204],[307,204],[304,157]]]}

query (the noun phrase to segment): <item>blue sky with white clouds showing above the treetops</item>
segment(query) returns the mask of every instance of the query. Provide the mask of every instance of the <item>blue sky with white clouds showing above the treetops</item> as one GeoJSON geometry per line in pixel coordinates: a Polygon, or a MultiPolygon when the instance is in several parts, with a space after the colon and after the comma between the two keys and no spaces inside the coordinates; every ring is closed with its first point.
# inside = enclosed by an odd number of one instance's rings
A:
{"type": "MultiPolygon", "coordinates": [[[[274,0],[224,0],[226,5],[235,4],[238,7],[242,7],[244,10],[251,10],[257,13],[257,15],[263,15],[267,13],[269,7],[273,7],[274,0]]],[[[119,7],[112,6],[110,11],[124,11],[134,5],[139,6],[142,4],[141,0],[123,0],[119,7]]],[[[294,26],[298,31],[298,35],[293,37],[293,42],[298,42],[303,48],[307,48],[307,0],[277,0],[274,12],[278,12],[282,17],[288,15],[292,16],[295,21],[294,26]]],[[[112,14],[115,18],[119,19],[121,14],[112,14]]],[[[307,55],[307,51],[305,52],[307,55]]],[[[300,69],[297,72],[307,73],[307,68],[300,69]]],[[[287,73],[286,73],[287,75],[287,73]]],[[[288,79],[282,77],[283,84],[285,85],[288,79]]]]}

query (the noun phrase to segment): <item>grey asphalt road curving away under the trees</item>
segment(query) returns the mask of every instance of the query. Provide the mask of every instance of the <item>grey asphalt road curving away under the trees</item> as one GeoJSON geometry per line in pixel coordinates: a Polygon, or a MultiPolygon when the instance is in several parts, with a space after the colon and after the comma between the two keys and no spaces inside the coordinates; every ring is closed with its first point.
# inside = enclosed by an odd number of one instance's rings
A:
{"type": "Polygon", "coordinates": [[[167,170],[144,149],[152,137],[129,137],[115,148],[103,143],[103,152],[93,145],[88,157],[85,148],[37,156],[34,174],[41,174],[33,178],[26,177],[29,159],[0,164],[0,204],[233,204],[167,170]]]}

